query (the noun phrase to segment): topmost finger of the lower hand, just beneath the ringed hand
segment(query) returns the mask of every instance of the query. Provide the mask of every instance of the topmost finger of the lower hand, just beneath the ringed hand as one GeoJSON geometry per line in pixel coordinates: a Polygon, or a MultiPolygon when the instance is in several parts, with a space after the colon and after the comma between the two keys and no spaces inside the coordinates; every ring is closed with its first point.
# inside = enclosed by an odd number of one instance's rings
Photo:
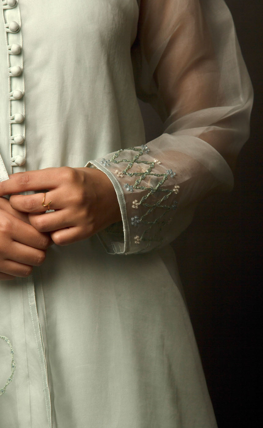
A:
{"type": "Polygon", "coordinates": [[[15,217],[13,217],[10,226],[10,235],[14,241],[39,250],[46,250],[51,245],[51,238],[48,235],[40,233],[30,224],[24,223],[15,217]]]}

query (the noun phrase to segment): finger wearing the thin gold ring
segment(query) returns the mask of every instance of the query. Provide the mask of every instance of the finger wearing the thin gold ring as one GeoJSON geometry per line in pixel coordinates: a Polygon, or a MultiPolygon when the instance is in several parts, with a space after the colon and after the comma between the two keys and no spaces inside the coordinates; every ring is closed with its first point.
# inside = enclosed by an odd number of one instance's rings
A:
{"type": "Polygon", "coordinates": [[[51,190],[46,194],[12,195],[9,202],[15,210],[27,213],[48,211],[48,204],[51,210],[61,209],[65,206],[65,198],[60,190],[51,190]],[[43,203],[45,206],[43,206],[43,203]]]}

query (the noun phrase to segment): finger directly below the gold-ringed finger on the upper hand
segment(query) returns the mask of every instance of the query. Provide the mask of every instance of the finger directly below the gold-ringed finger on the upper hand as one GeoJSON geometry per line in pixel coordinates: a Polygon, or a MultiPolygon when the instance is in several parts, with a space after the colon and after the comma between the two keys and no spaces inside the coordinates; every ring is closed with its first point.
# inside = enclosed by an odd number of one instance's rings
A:
{"type": "Polygon", "coordinates": [[[28,214],[30,224],[39,232],[51,232],[73,226],[69,210],[58,210],[47,214],[28,214]]]}

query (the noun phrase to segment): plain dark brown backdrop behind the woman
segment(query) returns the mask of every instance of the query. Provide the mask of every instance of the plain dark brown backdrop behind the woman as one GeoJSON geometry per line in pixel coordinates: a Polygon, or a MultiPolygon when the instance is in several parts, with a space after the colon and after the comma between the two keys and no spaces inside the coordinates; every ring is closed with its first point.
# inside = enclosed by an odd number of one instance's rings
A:
{"type": "MultiPolygon", "coordinates": [[[[259,400],[263,2],[226,3],[254,86],[251,137],[239,155],[233,192],[203,201],[173,247],[218,427],[252,428],[263,426],[259,400]]],[[[147,105],[141,106],[146,138],[151,140],[161,133],[161,123],[147,105]]]]}

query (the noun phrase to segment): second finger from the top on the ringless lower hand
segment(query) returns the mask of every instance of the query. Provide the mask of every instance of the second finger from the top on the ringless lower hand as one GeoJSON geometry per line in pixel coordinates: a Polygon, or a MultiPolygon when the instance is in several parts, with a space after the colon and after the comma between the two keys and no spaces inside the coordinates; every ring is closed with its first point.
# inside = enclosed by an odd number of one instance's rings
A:
{"type": "Polygon", "coordinates": [[[44,250],[38,250],[16,241],[13,241],[9,252],[6,253],[6,259],[32,266],[42,265],[45,261],[45,257],[46,254],[44,250]]]}

